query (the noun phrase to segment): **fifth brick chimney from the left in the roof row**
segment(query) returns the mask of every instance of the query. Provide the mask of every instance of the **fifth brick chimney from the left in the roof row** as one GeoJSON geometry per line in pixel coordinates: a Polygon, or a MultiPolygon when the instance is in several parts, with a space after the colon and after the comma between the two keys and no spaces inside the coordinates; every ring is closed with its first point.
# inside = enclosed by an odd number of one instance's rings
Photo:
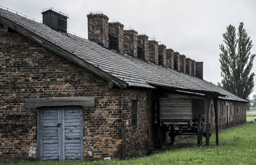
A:
{"type": "Polygon", "coordinates": [[[148,41],[148,59],[158,65],[158,42],[156,40],[148,41]]]}

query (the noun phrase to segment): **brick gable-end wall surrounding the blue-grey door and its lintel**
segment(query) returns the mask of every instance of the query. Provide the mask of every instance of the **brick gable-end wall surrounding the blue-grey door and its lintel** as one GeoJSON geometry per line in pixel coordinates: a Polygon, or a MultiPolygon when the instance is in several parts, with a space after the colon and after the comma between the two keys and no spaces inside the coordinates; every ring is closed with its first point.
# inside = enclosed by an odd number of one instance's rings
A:
{"type": "Polygon", "coordinates": [[[84,158],[122,156],[119,89],[18,33],[1,28],[0,38],[0,160],[35,159],[38,110],[24,107],[32,97],[94,96],[84,109],[84,158]]]}

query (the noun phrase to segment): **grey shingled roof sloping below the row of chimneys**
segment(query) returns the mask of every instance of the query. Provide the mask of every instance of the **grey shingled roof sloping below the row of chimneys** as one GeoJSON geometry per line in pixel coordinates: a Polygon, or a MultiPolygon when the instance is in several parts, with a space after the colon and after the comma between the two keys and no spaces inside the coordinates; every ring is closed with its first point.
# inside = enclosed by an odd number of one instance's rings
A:
{"type": "Polygon", "coordinates": [[[212,92],[222,95],[220,98],[225,100],[247,102],[208,81],[177,72],[171,68],[141,61],[126,54],[116,53],[95,42],[69,33],[59,33],[42,23],[1,8],[0,22],[70,61],[86,67],[94,74],[103,78],[109,77],[106,78],[108,81],[111,79],[114,84],[122,88],[127,86],[144,88],[161,86],[198,93],[212,92]]]}

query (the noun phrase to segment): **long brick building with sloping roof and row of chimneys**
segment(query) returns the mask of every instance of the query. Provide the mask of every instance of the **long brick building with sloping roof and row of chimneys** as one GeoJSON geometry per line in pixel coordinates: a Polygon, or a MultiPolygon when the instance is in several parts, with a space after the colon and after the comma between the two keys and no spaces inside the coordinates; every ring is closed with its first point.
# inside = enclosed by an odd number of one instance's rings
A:
{"type": "Polygon", "coordinates": [[[125,159],[161,147],[163,125],[208,120],[208,107],[211,129],[246,122],[246,100],[205,81],[202,62],[103,14],[88,15],[89,40],[42,14],[0,9],[1,161],[125,159]]]}

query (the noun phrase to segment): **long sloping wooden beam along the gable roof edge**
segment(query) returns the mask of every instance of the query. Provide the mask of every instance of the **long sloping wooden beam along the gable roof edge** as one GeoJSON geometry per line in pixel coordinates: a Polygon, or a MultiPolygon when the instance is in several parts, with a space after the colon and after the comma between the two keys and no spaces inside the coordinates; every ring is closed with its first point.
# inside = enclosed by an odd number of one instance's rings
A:
{"type": "Polygon", "coordinates": [[[76,65],[86,68],[86,70],[89,70],[93,74],[98,75],[99,77],[102,77],[102,79],[105,79],[106,81],[112,81],[113,84],[115,84],[119,88],[121,89],[127,88],[127,83],[125,83],[124,81],[121,81],[120,79],[114,77],[113,75],[108,74],[107,72],[104,72],[103,70],[100,70],[100,68],[97,68],[92,64],[88,63],[87,61],[84,61],[84,59],[74,56],[72,53],[66,51],[65,49],[62,49],[61,47],[59,47],[58,45],[55,45],[54,43],[49,42],[48,40],[45,40],[44,38],[36,35],[35,33],[32,33],[28,29],[25,29],[22,26],[19,26],[14,22],[1,16],[0,16],[0,23],[4,24],[4,26],[8,26],[8,28],[11,28],[17,31],[21,35],[28,37],[30,40],[33,40],[34,42],[55,52],[56,54],[59,54],[63,58],[66,58],[69,61],[76,63],[76,65]]]}

